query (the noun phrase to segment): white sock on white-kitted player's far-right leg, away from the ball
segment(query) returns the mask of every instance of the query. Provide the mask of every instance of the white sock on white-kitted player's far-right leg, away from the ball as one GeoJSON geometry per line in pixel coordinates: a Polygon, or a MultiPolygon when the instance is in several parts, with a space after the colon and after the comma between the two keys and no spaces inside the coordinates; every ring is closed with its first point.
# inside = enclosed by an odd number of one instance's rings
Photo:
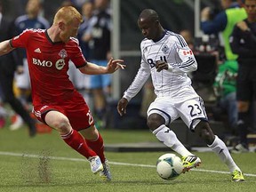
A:
{"type": "Polygon", "coordinates": [[[234,162],[232,156],[230,155],[227,146],[222,140],[220,140],[217,135],[215,135],[215,140],[213,140],[212,145],[208,145],[208,147],[212,148],[212,151],[214,151],[217,156],[220,156],[220,160],[224,164],[227,164],[230,172],[234,172],[235,170],[239,170],[241,172],[239,167],[234,162]]]}

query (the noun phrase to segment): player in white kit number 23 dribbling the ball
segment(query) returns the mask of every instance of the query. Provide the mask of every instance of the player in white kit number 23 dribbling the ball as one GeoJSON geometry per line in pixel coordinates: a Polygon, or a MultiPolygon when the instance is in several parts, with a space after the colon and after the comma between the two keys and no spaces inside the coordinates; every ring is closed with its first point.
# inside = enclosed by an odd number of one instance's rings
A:
{"type": "Polygon", "coordinates": [[[140,69],[118,102],[120,116],[124,116],[128,102],[140,92],[151,75],[156,100],[148,108],[148,127],[158,140],[182,156],[183,172],[198,166],[201,160],[190,153],[168,127],[179,117],[228,165],[233,181],[244,181],[243,173],[230,156],[225,143],[212,132],[204,101],[191,86],[187,73],[195,71],[197,63],[184,38],[165,30],[157,13],[151,9],[140,13],[138,25],[145,36],[140,44],[140,69]]]}

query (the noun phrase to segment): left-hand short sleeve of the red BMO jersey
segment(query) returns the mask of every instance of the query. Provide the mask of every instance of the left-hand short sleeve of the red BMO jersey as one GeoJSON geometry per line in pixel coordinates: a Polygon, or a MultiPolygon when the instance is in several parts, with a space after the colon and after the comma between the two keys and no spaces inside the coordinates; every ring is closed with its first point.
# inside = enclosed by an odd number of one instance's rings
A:
{"type": "Polygon", "coordinates": [[[19,36],[14,36],[11,39],[11,44],[13,48],[23,47],[26,48],[28,44],[29,36],[31,35],[31,29],[24,30],[19,36]]]}

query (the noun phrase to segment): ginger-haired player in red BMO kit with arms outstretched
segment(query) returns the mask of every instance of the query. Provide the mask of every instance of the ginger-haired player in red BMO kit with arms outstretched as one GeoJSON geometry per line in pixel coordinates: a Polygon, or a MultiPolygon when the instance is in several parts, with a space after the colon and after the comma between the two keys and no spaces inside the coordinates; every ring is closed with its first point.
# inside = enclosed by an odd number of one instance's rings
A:
{"type": "Polygon", "coordinates": [[[83,96],[68,79],[68,60],[87,75],[114,73],[125,66],[120,64],[123,60],[111,59],[107,67],[87,62],[74,37],[81,22],[82,16],[74,7],[62,7],[50,28],[26,29],[19,36],[1,42],[0,55],[18,47],[26,48],[34,114],[85,156],[93,173],[100,172],[103,179],[111,180],[100,132],[83,96]]]}

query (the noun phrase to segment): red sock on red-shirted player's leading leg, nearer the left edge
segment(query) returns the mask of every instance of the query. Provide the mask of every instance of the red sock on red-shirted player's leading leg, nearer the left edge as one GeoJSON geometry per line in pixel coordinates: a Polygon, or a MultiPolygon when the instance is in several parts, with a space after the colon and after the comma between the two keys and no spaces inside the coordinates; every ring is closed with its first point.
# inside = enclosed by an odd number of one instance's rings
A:
{"type": "Polygon", "coordinates": [[[74,148],[82,156],[86,158],[97,156],[91,148],[88,148],[83,136],[76,130],[71,130],[68,134],[60,136],[71,148],[74,148]]]}

